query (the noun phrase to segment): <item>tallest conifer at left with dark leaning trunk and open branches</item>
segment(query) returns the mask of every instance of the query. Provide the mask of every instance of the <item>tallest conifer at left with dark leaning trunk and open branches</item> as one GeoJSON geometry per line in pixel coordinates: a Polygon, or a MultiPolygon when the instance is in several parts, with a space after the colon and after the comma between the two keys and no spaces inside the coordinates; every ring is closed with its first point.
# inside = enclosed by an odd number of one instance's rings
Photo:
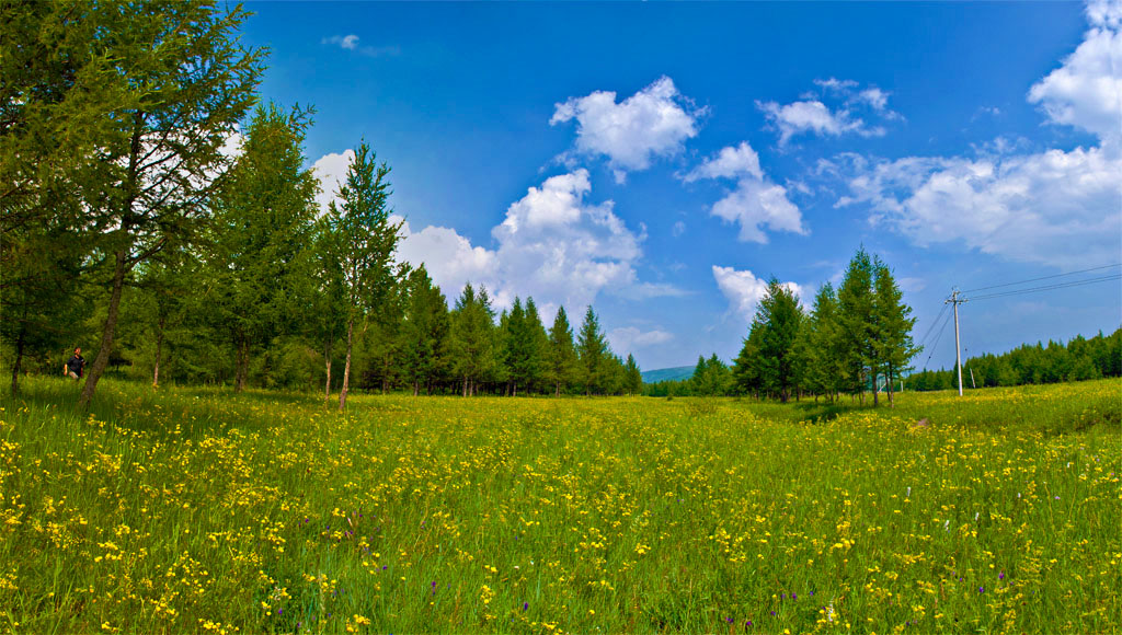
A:
{"type": "Polygon", "coordinates": [[[98,139],[96,171],[75,183],[84,231],[108,260],[108,311],[80,403],[89,406],[109,363],[129,273],[169,242],[192,240],[226,169],[221,153],[252,105],[264,52],[241,45],[247,13],[203,0],[99,3],[91,56],[119,98],[98,139]]]}

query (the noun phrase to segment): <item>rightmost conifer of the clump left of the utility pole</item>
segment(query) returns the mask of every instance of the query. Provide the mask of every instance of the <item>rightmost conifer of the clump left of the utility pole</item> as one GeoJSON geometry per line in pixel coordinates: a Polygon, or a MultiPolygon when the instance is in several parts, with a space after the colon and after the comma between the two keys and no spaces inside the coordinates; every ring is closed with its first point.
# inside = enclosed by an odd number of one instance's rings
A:
{"type": "Polygon", "coordinates": [[[896,286],[892,270],[880,260],[876,263],[873,285],[874,324],[877,330],[874,340],[876,360],[882,365],[889,404],[892,404],[894,377],[907,370],[908,362],[919,352],[911,337],[916,319],[911,316],[911,307],[903,302],[903,292],[896,286]]]}

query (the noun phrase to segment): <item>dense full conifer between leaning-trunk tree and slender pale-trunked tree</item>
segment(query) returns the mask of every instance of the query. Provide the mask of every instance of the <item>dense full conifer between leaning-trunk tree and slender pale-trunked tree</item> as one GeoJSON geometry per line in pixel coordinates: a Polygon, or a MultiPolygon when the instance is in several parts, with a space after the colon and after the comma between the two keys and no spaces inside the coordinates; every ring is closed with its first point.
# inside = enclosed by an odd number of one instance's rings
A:
{"type": "Polygon", "coordinates": [[[234,390],[246,386],[250,355],[305,313],[319,183],[304,168],[311,111],[258,105],[246,141],[215,197],[210,266],[214,309],[237,351],[234,390]]]}

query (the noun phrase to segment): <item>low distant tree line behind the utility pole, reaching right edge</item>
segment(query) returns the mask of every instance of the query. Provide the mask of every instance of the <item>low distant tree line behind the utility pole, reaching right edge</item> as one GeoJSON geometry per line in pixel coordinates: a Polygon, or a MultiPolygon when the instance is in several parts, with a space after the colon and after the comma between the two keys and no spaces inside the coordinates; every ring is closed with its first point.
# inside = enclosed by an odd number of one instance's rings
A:
{"type": "MultiPolygon", "coordinates": [[[[1122,329],[1110,335],[1101,331],[1087,339],[1078,335],[1067,344],[1049,341],[1022,344],[1011,351],[986,353],[963,362],[963,386],[992,388],[1026,384],[1083,381],[1122,377],[1122,329]]],[[[912,390],[947,390],[958,387],[955,369],[922,370],[904,381],[912,390]]]]}

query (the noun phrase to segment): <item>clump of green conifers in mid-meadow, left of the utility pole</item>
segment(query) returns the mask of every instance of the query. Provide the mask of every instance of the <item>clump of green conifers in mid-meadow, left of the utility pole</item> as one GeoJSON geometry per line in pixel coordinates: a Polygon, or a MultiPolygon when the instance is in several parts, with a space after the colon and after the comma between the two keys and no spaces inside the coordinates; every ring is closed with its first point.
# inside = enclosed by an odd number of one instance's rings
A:
{"type": "Polygon", "coordinates": [[[893,385],[920,350],[911,337],[914,323],[892,270],[862,248],[837,291],[824,284],[809,310],[793,288],[771,278],[732,366],[716,353],[701,356],[690,379],[652,384],[645,392],[780,402],[844,395],[864,402],[872,392],[876,405],[883,385],[891,403],[893,385]]]}

